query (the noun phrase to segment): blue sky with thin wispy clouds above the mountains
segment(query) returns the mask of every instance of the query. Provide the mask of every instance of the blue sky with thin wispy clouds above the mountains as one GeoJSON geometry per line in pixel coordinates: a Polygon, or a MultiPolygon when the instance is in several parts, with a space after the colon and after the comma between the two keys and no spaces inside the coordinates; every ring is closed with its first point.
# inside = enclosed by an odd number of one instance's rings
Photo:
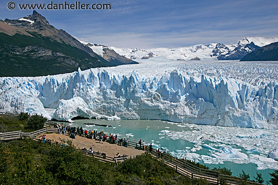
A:
{"type": "MultiPolygon", "coordinates": [[[[52,0],[53,3],[63,3],[52,0]]],[[[18,4],[51,1],[0,0],[0,19],[32,14],[18,4]]],[[[66,1],[68,4],[75,1],[66,1]]],[[[237,43],[246,36],[278,36],[278,1],[80,0],[111,4],[111,10],[36,10],[50,24],[84,41],[138,49],[237,43]]]]}

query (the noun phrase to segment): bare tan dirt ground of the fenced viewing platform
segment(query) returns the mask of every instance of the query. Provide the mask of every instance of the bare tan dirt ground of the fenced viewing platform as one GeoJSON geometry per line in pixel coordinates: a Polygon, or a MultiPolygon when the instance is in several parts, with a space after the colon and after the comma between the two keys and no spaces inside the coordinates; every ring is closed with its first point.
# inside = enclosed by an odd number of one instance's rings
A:
{"type": "MultiPolygon", "coordinates": [[[[36,136],[36,138],[41,139],[42,134],[36,136]]],[[[91,138],[82,137],[76,135],[75,138],[70,138],[68,134],[58,134],[58,133],[49,133],[46,134],[45,138],[47,140],[51,140],[54,142],[61,143],[61,140],[70,140],[72,144],[78,149],[87,149],[91,147],[94,152],[105,153],[106,156],[114,157],[115,154],[119,153],[119,155],[128,155],[128,156],[136,156],[142,153],[145,153],[143,150],[137,150],[131,147],[124,147],[116,144],[110,144],[108,142],[99,142],[98,140],[92,140],[91,138]]]]}

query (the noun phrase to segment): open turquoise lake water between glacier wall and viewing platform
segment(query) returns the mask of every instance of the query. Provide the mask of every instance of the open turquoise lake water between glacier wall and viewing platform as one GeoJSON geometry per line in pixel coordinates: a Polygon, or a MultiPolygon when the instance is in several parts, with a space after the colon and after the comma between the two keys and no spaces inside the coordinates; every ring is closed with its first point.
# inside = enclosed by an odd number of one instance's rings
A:
{"type": "MultiPolygon", "coordinates": [[[[171,130],[172,132],[178,132],[181,131],[190,131],[193,129],[191,127],[185,126],[181,124],[174,124],[171,122],[166,121],[154,121],[154,120],[115,120],[115,121],[107,121],[107,120],[96,120],[96,119],[80,119],[75,120],[74,123],[66,123],[70,124],[71,126],[79,126],[83,127],[85,129],[89,130],[98,130],[98,131],[104,131],[105,133],[111,133],[111,134],[117,134],[118,138],[126,137],[129,141],[132,142],[138,142],[140,139],[142,141],[144,140],[146,144],[153,143],[154,146],[157,146],[159,148],[164,148],[168,152],[176,152],[176,150],[190,150],[190,148],[193,148],[194,145],[187,140],[185,140],[182,135],[180,138],[171,138],[169,135],[165,135],[165,130],[171,130]],[[96,126],[96,125],[85,125],[84,123],[96,123],[96,124],[105,124],[105,125],[111,125],[111,127],[104,127],[104,126],[96,126]],[[164,130],[164,131],[163,131],[164,130]]],[[[213,126],[212,126],[213,127],[213,126]]],[[[209,144],[209,141],[203,142],[203,144],[209,144]]],[[[233,146],[233,148],[236,148],[236,146],[233,146]]],[[[237,147],[239,149],[242,149],[242,153],[248,153],[241,147],[237,147]]],[[[164,151],[165,151],[164,150],[164,151]]],[[[210,150],[207,148],[202,148],[202,150],[195,152],[199,155],[207,155],[210,153],[210,150]]],[[[247,164],[236,164],[231,161],[224,161],[223,164],[208,164],[204,163],[204,161],[197,162],[201,164],[205,164],[209,166],[210,168],[213,167],[226,167],[230,168],[233,172],[233,175],[239,175],[242,173],[242,170],[244,170],[246,173],[250,174],[250,178],[253,179],[253,176],[256,176],[256,172],[262,174],[264,178],[264,183],[266,183],[266,180],[270,179],[270,175],[268,173],[271,173],[274,171],[274,169],[263,169],[258,170],[257,165],[254,163],[247,163],[247,164]]]]}

